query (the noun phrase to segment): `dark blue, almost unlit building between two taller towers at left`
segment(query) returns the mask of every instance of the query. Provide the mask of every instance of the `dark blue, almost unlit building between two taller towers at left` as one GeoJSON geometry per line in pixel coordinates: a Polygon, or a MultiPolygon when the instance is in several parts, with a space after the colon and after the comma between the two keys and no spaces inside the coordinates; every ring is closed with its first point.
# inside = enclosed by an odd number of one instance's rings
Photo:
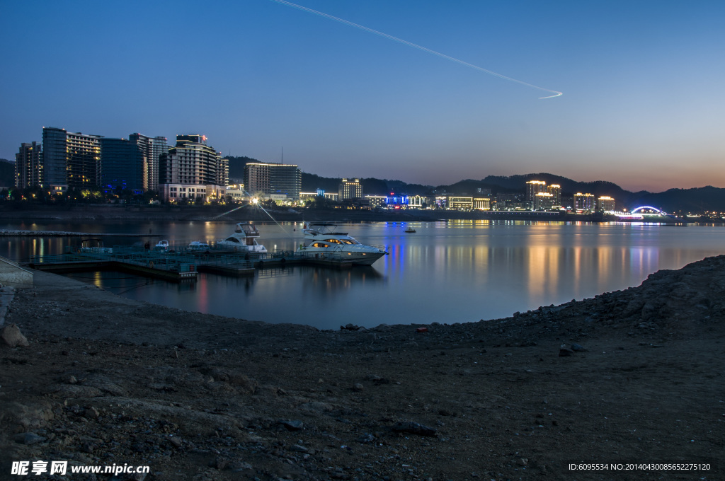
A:
{"type": "Polygon", "coordinates": [[[105,192],[146,191],[146,156],[136,142],[101,138],[101,188],[105,192]]]}

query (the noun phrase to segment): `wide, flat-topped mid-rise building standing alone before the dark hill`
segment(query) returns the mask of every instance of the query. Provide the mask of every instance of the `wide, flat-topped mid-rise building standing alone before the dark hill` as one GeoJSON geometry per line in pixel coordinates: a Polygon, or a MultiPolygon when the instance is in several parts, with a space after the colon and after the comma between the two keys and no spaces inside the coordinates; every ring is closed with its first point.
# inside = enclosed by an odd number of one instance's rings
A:
{"type": "Polygon", "coordinates": [[[244,166],[244,186],[252,196],[298,201],[302,171],[295,164],[249,162],[244,166]]]}

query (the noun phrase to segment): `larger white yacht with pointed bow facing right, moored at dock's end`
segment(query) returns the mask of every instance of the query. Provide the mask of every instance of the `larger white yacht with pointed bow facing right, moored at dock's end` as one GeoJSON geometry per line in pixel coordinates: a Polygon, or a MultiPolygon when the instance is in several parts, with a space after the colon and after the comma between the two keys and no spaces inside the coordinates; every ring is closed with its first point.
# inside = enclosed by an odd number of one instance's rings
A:
{"type": "Polygon", "coordinates": [[[337,232],[337,225],[329,222],[305,224],[305,241],[297,252],[313,259],[352,262],[369,266],[388,254],[383,246],[366,246],[347,233],[337,232]]]}

